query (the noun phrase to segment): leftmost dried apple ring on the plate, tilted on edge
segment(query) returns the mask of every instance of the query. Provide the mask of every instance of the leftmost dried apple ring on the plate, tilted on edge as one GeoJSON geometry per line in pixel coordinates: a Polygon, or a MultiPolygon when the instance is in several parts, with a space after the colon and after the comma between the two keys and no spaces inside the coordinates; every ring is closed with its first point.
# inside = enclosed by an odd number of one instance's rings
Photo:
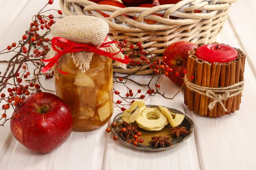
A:
{"type": "Polygon", "coordinates": [[[132,123],[137,120],[137,118],[140,116],[140,114],[145,110],[146,106],[145,103],[141,100],[137,100],[131,104],[131,107],[124,111],[122,115],[122,121],[125,121],[127,123],[132,123]],[[136,111],[134,111],[134,109],[136,111]],[[132,113],[134,111],[134,113],[132,113]],[[131,114],[132,113],[132,114],[131,114]]]}

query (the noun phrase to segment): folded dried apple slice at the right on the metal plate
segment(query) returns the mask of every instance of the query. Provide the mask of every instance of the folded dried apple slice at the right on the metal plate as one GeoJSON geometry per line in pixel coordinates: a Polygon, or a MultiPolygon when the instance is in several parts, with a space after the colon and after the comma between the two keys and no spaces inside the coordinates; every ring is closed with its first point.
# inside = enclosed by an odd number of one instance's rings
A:
{"type": "Polygon", "coordinates": [[[167,117],[172,127],[177,127],[178,125],[180,125],[185,117],[183,114],[172,113],[166,107],[158,106],[158,108],[160,108],[164,116],[167,117]],[[173,119],[173,116],[174,116],[174,119],[173,119]]]}

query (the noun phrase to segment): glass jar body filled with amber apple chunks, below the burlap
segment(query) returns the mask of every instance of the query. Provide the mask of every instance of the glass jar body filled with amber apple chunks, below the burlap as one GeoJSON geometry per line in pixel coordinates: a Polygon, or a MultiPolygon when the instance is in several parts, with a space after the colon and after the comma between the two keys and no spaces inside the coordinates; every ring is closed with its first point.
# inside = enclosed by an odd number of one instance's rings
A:
{"type": "Polygon", "coordinates": [[[56,94],[70,107],[73,130],[90,131],[105,125],[113,114],[112,59],[93,54],[90,68],[82,73],[69,54],[64,54],[55,69],[56,94]]]}

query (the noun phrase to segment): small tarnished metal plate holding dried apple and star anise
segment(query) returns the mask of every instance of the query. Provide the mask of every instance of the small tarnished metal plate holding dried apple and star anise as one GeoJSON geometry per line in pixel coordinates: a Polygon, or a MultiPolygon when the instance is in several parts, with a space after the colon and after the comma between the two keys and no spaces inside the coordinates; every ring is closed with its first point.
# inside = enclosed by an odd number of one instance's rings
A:
{"type": "MultiPolygon", "coordinates": [[[[156,106],[156,105],[146,105],[146,107],[147,108],[158,108],[158,106],[156,106]]],[[[173,113],[183,114],[181,111],[178,111],[176,109],[172,109],[172,108],[168,108],[168,109],[169,109],[169,111],[172,111],[173,113]]],[[[122,118],[121,118],[122,114],[123,114],[123,112],[116,115],[116,117],[113,119],[113,122],[122,123],[122,118]]],[[[134,122],[133,124],[136,125],[136,122],[134,122]]],[[[122,144],[125,144],[127,146],[135,147],[140,150],[158,151],[158,150],[166,150],[166,149],[173,148],[173,147],[181,144],[182,142],[184,142],[186,139],[189,139],[190,136],[192,136],[193,129],[194,129],[194,122],[188,116],[185,115],[183,122],[180,124],[180,127],[186,127],[186,130],[189,131],[189,135],[180,136],[179,138],[172,136],[170,134],[170,131],[171,131],[170,128],[172,128],[172,126],[170,124],[166,125],[160,131],[147,131],[147,130],[140,129],[138,127],[138,130],[142,133],[140,138],[143,138],[144,142],[138,143],[137,146],[134,146],[132,143],[128,143],[125,139],[122,138],[122,136],[119,133],[116,133],[116,135],[118,136],[119,141],[122,142],[122,144]],[[154,149],[154,145],[151,145],[148,143],[149,141],[151,141],[152,136],[160,136],[160,135],[168,136],[170,138],[169,140],[172,142],[172,146],[160,147],[160,148],[154,149]]],[[[116,127],[111,126],[111,132],[114,133],[115,131],[116,131],[116,127]]]]}

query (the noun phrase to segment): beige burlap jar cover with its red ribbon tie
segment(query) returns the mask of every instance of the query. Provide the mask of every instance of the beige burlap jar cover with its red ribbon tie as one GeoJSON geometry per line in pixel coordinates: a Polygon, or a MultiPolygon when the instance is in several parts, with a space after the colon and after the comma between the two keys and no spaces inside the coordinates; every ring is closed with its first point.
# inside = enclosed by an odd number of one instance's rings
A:
{"type": "Polygon", "coordinates": [[[111,41],[107,37],[108,31],[108,23],[97,17],[84,15],[64,17],[51,28],[54,37],[52,49],[43,60],[49,63],[42,71],[46,73],[57,64],[63,54],[67,53],[83,73],[90,68],[93,53],[110,57],[116,60],[117,66],[125,69],[129,59],[116,47],[115,44],[118,42],[111,41]]]}

